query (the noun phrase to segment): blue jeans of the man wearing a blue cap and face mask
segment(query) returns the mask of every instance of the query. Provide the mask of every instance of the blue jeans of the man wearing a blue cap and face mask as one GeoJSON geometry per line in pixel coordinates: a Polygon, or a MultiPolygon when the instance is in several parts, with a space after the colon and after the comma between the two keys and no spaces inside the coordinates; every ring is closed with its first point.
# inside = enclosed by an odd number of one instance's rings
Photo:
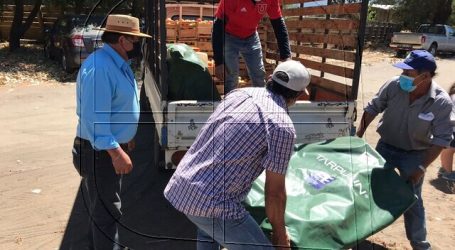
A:
{"type": "MultiPolygon", "coordinates": [[[[404,151],[389,144],[378,142],[376,151],[386,160],[385,168],[397,168],[404,180],[415,172],[420,171],[419,165],[423,162],[424,151],[404,151]]],[[[414,250],[431,249],[427,241],[427,229],[425,225],[425,208],[422,200],[423,178],[414,185],[414,193],[418,200],[404,213],[404,226],[406,236],[414,250]]]]}

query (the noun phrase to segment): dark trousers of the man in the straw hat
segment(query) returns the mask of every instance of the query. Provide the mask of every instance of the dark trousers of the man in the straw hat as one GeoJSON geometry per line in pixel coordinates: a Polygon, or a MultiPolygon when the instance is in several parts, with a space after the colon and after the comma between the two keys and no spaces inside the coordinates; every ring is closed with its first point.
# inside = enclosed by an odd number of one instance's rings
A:
{"type": "Polygon", "coordinates": [[[120,249],[118,221],[121,213],[121,176],[115,173],[106,151],[94,150],[90,142],[76,137],[73,145],[73,163],[81,175],[81,192],[89,214],[87,230],[81,229],[77,242],[86,249],[120,249]]]}

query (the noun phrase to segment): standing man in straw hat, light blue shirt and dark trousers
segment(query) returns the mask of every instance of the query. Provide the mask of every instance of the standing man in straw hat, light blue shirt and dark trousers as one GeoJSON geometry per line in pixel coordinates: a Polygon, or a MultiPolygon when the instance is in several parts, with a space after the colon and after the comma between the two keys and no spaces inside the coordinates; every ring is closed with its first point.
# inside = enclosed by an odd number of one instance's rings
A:
{"type": "Polygon", "coordinates": [[[91,54],[77,76],[77,115],[73,163],[90,214],[88,237],[77,248],[119,249],[122,174],[133,165],[128,150],[139,121],[139,95],[129,60],[140,54],[139,20],[110,15],[104,47],[91,54]],[[82,245],[80,245],[82,244],[82,245]]]}

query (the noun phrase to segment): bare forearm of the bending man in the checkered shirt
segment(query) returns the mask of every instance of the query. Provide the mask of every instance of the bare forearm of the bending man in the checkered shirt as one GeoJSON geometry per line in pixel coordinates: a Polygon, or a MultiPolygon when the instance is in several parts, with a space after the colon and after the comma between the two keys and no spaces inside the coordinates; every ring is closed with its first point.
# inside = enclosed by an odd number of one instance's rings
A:
{"type": "Polygon", "coordinates": [[[272,224],[272,243],[289,247],[290,242],[284,226],[284,211],[286,209],[285,176],[266,171],[265,180],[265,211],[272,224]]]}

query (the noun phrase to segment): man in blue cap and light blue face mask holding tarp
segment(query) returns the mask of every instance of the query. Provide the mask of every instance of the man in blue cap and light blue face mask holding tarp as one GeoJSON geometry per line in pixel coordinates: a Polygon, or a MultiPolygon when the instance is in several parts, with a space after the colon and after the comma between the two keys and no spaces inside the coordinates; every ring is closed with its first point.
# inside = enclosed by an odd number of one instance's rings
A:
{"type": "Polygon", "coordinates": [[[452,100],[433,81],[434,57],[425,50],[412,51],[402,69],[381,87],[365,107],[357,135],[362,137],[368,125],[384,112],[377,132],[381,136],[376,150],[386,160],[386,168],[397,168],[410,181],[418,197],[404,213],[406,236],[414,250],[429,250],[425,226],[422,184],[426,169],[452,140],[452,100]]]}

